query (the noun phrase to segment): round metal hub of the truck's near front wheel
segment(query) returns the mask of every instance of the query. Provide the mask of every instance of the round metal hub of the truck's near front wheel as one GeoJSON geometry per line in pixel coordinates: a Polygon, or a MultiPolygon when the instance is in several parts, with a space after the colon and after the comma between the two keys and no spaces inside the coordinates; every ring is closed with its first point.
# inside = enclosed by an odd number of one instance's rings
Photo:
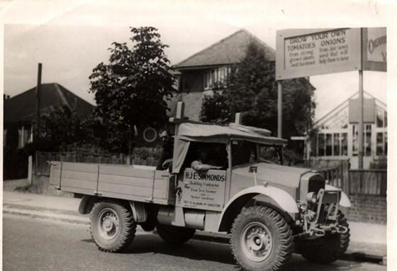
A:
{"type": "Polygon", "coordinates": [[[242,251],[250,260],[261,262],[272,252],[272,236],[263,223],[252,222],[245,226],[241,235],[242,251]]]}

